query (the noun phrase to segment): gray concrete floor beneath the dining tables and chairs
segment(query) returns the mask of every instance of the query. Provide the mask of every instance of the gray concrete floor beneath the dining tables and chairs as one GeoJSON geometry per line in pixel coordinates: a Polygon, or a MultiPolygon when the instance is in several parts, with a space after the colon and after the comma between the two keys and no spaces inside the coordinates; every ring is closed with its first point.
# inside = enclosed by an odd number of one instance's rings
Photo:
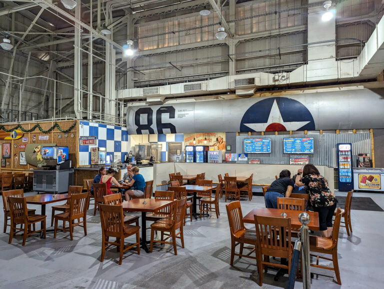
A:
{"type": "MultiPolygon", "coordinates": [[[[34,194],[33,192],[25,195],[34,194]]],[[[346,195],[346,193],[337,193],[346,195]]],[[[369,196],[384,207],[384,194],[354,193],[369,196]]],[[[55,203],[58,204],[58,203],[55,203]]],[[[264,206],[261,196],[252,201],[241,201],[245,215],[255,206],[264,206]]],[[[38,205],[28,205],[40,211],[38,205]]],[[[184,227],[185,248],[177,248],[173,254],[170,245],[156,245],[152,253],[144,250],[124,254],[118,265],[118,253],[113,248],[100,262],[101,227],[98,212],[87,214],[87,236],[81,227],[74,230],[73,241],[69,234],[47,233],[46,239],[37,235],[27,238],[22,246],[21,236],[8,244],[8,233],[0,234],[0,287],[6,288],[249,288],[258,287],[250,276],[256,270],[255,260],[235,258],[229,265],[230,236],[225,203],[220,200],[220,216],[187,221],[184,227]]],[[[46,207],[47,223],[50,224],[50,205],[46,207]]],[[[338,260],[342,286],[335,283],[330,270],[311,268],[314,275],[312,288],[382,288],[384,249],[384,212],[352,210],[351,236],[340,228],[338,260]]],[[[3,214],[0,217],[3,231],[3,214]]],[[[147,223],[149,226],[149,222],[147,223]]],[[[7,229],[9,232],[9,228],[7,229]]],[[[149,238],[150,233],[147,231],[149,238]]],[[[131,238],[133,241],[133,238],[131,238]]],[[[180,242],[177,241],[180,245],[180,242]]],[[[331,262],[325,262],[330,264],[331,262]]],[[[264,274],[264,288],[285,287],[287,276],[273,280],[275,271],[264,274]]],[[[257,272],[254,273],[257,277],[257,272]]],[[[297,280],[295,288],[302,288],[297,280]]]]}

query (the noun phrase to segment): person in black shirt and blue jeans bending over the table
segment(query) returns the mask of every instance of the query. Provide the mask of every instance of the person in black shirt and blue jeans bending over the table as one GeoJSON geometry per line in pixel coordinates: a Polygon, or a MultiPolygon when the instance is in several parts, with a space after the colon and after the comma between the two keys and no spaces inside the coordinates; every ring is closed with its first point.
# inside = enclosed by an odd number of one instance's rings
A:
{"type": "Polygon", "coordinates": [[[292,192],[294,183],[290,178],[290,171],[283,169],[279,178],[274,180],[266,189],[265,205],[268,208],[277,208],[277,197],[289,197],[292,192]]]}

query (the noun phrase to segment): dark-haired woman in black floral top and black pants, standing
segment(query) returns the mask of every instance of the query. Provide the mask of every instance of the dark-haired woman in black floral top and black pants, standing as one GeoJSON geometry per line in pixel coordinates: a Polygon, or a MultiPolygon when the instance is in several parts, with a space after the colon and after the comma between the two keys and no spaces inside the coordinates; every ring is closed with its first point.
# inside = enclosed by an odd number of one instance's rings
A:
{"type": "Polygon", "coordinates": [[[313,164],[308,163],[304,165],[303,169],[297,170],[295,185],[305,185],[313,210],[318,212],[321,236],[330,237],[332,233],[332,216],[337,200],[334,193],[330,191],[326,178],[320,175],[320,172],[313,164]]]}

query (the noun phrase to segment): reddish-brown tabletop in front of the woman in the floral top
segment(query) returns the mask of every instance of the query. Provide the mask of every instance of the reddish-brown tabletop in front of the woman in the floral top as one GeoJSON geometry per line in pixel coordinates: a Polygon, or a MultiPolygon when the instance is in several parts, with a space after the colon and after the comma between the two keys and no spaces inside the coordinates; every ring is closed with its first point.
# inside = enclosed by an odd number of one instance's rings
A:
{"type": "MultiPolygon", "coordinates": [[[[294,229],[298,229],[301,226],[300,221],[298,220],[298,215],[303,212],[303,210],[285,210],[287,214],[286,217],[290,217],[290,225],[294,229]]],[[[305,211],[310,216],[310,221],[308,223],[308,227],[311,230],[319,230],[319,222],[318,222],[318,213],[314,211],[305,211]]],[[[254,224],[253,215],[261,215],[261,216],[271,216],[271,217],[282,217],[280,214],[282,213],[282,209],[277,208],[266,208],[266,207],[255,207],[250,212],[248,212],[243,218],[244,223],[252,223],[254,224]]]]}

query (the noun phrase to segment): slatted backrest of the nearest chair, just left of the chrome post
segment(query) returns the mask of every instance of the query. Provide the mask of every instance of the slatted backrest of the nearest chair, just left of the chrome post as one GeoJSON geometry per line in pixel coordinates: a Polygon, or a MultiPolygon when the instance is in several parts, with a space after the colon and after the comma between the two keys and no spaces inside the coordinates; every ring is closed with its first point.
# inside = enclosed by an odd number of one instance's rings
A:
{"type": "Polygon", "coordinates": [[[292,254],[290,218],[254,215],[254,223],[261,254],[290,258],[292,254]]]}

